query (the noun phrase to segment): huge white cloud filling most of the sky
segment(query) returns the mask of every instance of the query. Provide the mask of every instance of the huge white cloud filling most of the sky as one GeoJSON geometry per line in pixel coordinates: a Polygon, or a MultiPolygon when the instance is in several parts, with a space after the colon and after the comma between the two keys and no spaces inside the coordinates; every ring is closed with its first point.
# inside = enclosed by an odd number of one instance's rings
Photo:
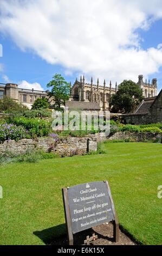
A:
{"type": "Polygon", "coordinates": [[[1,0],[0,11],[2,32],[66,74],[137,81],[162,65],[162,49],[142,49],[137,33],[162,18],[161,0],[1,0]]]}

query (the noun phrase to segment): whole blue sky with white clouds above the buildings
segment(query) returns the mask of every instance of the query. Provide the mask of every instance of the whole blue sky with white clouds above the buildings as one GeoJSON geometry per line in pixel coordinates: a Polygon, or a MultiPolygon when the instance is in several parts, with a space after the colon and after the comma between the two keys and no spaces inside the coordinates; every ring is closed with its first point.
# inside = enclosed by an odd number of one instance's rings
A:
{"type": "Polygon", "coordinates": [[[161,0],[0,0],[0,82],[46,90],[67,82],[158,80],[162,88],[161,0]]]}

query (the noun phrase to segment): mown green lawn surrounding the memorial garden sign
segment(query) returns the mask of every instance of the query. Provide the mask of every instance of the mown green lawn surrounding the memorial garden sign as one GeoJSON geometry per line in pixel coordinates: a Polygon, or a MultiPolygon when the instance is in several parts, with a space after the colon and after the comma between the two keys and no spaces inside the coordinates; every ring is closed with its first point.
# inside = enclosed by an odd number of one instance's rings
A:
{"type": "Polygon", "coordinates": [[[61,188],[100,180],[109,181],[122,227],[141,243],[162,244],[162,199],[157,197],[157,187],[162,185],[162,144],[103,147],[107,154],[1,167],[0,244],[43,245],[64,234],[61,188]]]}

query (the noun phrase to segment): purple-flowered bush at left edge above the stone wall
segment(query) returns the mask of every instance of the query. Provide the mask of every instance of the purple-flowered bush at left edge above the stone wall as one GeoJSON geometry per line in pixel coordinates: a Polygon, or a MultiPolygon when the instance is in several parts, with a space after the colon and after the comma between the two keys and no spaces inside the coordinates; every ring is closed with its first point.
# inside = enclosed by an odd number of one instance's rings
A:
{"type": "Polygon", "coordinates": [[[0,141],[4,142],[8,139],[23,139],[28,136],[27,131],[22,126],[16,126],[13,124],[0,124],[0,141]]]}

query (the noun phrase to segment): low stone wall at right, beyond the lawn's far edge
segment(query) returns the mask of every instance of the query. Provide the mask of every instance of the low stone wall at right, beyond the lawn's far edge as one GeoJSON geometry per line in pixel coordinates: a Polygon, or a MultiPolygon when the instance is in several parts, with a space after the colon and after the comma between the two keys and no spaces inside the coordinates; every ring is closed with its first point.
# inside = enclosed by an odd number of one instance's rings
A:
{"type": "Polygon", "coordinates": [[[162,133],[150,133],[150,132],[116,132],[113,136],[108,138],[113,139],[131,139],[134,142],[145,142],[159,140],[162,142],[162,133]]]}

